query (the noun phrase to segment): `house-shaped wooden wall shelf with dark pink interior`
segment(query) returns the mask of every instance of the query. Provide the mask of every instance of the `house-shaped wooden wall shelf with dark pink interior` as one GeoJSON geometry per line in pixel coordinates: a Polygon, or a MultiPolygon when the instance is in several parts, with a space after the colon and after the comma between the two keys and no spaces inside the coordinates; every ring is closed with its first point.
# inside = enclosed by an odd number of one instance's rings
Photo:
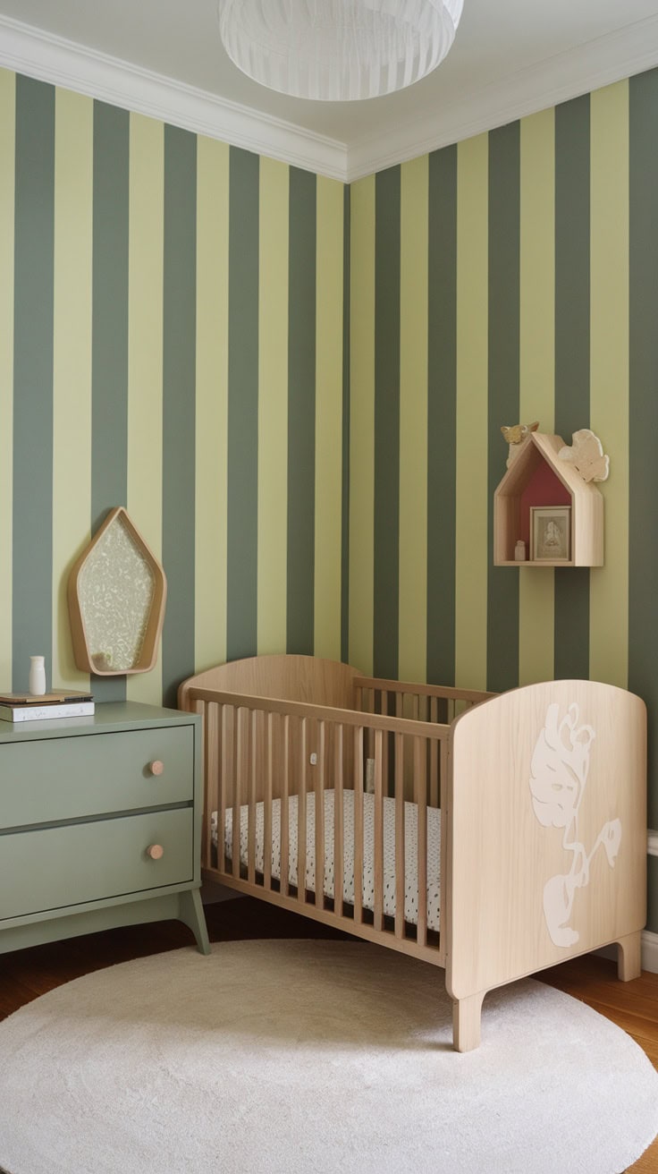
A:
{"type": "Polygon", "coordinates": [[[603,494],[584,481],[574,465],[557,454],[564,446],[558,436],[530,432],[494,494],[494,565],[496,567],[602,567],[603,494]],[[517,562],[520,539],[530,554],[532,506],[570,506],[568,559],[531,559],[517,562]]]}

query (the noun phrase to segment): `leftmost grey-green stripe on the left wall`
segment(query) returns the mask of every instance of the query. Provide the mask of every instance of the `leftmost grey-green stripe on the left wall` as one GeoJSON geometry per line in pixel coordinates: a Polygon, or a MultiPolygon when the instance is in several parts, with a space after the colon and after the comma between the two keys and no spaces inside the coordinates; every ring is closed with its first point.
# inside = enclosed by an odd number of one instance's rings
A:
{"type": "Polygon", "coordinates": [[[16,76],[13,687],[29,656],[52,679],[53,272],[55,90],[16,76]]]}

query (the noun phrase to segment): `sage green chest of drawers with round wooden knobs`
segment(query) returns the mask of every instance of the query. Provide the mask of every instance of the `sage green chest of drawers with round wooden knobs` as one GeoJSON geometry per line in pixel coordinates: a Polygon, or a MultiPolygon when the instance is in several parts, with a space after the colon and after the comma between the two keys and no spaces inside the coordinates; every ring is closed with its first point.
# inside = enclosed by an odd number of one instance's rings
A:
{"type": "Polygon", "coordinates": [[[0,722],[0,952],[178,918],[203,953],[201,718],[0,722]]]}

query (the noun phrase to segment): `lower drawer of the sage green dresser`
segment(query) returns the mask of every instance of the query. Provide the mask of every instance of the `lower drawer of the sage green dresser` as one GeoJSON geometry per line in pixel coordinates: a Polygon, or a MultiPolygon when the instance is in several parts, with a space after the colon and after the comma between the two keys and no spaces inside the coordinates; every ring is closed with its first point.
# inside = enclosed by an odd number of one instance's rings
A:
{"type": "Polygon", "coordinates": [[[192,878],[191,808],[14,832],[0,836],[0,922],[192,878]]]}

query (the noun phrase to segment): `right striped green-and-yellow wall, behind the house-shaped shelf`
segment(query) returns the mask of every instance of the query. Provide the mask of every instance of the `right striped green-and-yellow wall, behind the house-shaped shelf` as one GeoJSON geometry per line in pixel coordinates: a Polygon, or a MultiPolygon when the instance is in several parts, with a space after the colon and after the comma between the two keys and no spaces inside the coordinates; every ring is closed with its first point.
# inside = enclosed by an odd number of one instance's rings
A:
{"type": "MultiPolygon", "coordinates": [[[[658,713],[658,72],[351,189],[350,655],[658,713]],[[605,566],[493,566],[503,424],[610,454],[605,566]]],[[[658,825],[653,728],[650,823],[658,825]]]]}

